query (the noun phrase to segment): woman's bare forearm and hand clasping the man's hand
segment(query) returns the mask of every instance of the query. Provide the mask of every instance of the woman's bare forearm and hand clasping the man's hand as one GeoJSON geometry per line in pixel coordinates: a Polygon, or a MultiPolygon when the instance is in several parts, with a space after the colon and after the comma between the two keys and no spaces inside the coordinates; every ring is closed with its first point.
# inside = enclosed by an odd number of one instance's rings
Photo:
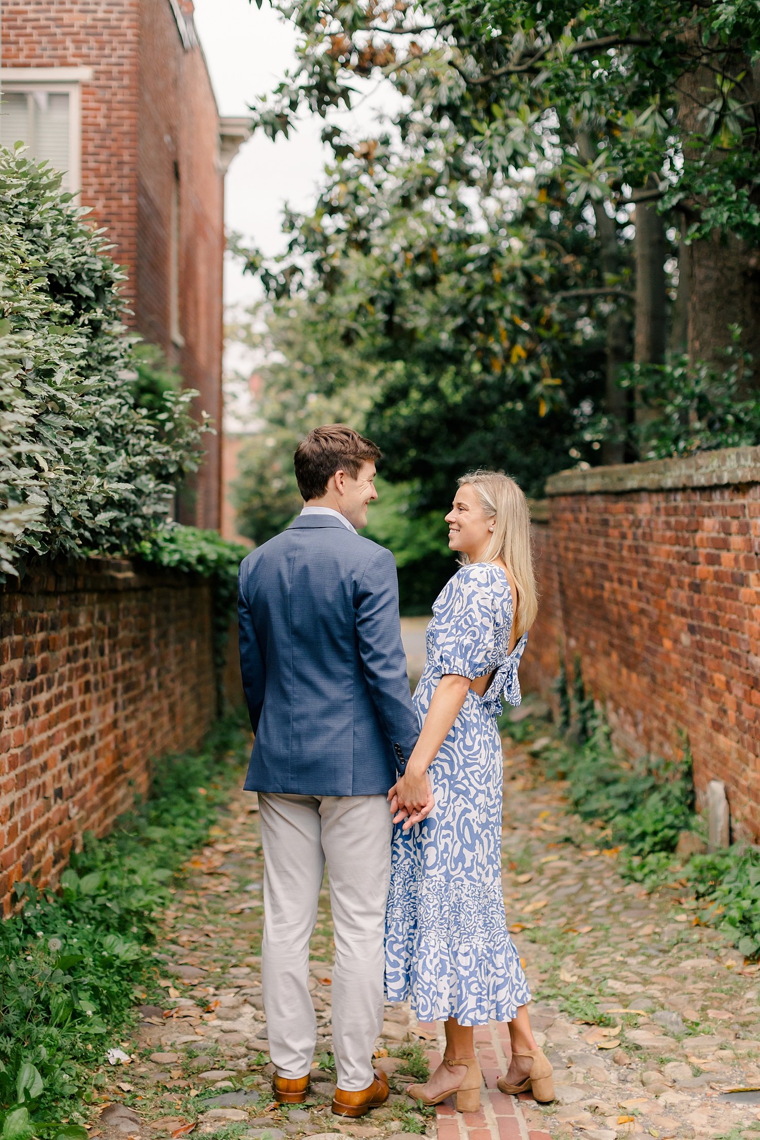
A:
{"type": "Polygon", "coordinates": [[[387,793],[387,798],[391,800],[393,822],[399,823],[403,820],[404,831],[424,820],[433,809],[435,801],[427,769],[449,735],[453,722],[459,716],[468,689],[468,677],[459,677],[456,674],[447,674],[441,677],[433,693],[422,732],[409,757],[407,769],[387,793]]]}

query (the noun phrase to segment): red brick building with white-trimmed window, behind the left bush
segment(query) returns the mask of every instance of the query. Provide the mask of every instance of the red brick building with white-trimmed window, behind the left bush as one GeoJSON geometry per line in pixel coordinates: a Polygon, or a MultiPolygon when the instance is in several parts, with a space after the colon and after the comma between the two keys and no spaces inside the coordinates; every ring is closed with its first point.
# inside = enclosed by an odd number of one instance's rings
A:
{"type": "MultiPolygon", "coordinates": [[[[0,141],[66,171],[113,239],[134,328],[222,422],[224,171],[246,137],[220,120],[191,0],[5,0],[0,141]]],[[[181,519],[221,522],[221,434],[181,519]]]]}

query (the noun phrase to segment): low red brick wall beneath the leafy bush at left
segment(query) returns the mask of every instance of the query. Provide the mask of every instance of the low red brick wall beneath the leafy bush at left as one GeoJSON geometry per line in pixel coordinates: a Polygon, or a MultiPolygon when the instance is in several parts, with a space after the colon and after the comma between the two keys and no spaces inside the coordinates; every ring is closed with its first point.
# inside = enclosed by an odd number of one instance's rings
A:
{"type": "Polygon", "coordinates": [[[206,580],[97,560],[0,587],[0,901],[55,880],[84,831],[146,791],[149,762],[215,715],[206,580]]]}

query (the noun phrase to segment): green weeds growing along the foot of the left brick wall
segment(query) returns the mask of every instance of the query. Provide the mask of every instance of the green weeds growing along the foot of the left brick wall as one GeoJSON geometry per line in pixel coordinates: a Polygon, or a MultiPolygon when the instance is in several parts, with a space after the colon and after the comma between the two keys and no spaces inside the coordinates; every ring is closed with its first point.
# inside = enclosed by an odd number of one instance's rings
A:
{"type": "Polygon", "coordinates": [[[0,923],[2,1140],[85,1140],[71,1124],[87,1096],[84,1067],[105,1060],[130,1019],[133,987],[156,977],[156,917],[204,841],[245,741],[228,720],[201,754],[162,760],[147,803],[106,839],[85,836],[57,891],[18,886],[23,911],[0,923]]]}

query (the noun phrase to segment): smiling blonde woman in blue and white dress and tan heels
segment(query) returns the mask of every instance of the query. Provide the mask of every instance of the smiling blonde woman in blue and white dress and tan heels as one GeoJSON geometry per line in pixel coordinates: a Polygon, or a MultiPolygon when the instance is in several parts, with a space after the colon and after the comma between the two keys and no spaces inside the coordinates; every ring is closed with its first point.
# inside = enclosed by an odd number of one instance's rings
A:
{"type": "Polygon", "coordinates": [[[489,1020],[509,1023],[512,1061],[499,1088],[554,1099],[501,891],[497,717],[502,698],[520,705],[517,666],[537,596],[528,503],[512,479],[493,471],[464,475],[446,521],[461,568],[433,605],[414,695],[422,731],[389,793],[395,828],[385,986],[389,1001],[410,999],[420,1021],[446,1023],[442,1065],[409,1094],[426,1105],[455,1096],[460,1112],[476,1112],[473,1026],[489,1020]],[[435,806],[418,823],[431,784],[435,806]]]}

